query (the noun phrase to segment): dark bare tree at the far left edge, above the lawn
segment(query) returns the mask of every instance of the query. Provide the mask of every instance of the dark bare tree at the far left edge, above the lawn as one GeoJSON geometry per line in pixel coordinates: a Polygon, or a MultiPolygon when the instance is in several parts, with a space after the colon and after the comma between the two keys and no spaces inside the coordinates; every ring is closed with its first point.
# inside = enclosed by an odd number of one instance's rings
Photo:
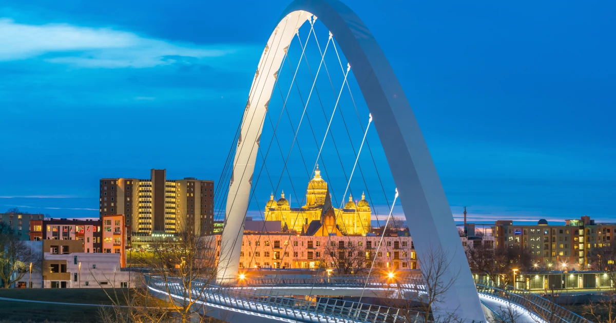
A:
{"type": "Polygon", "coordinates": [[[20,241],[13,228],[0,222],[0,279],[2,287],[9,288],[14,282],[28,273],[30,263],[34,269],[41,266],[41,257],[37,257],[25,241],[20,241]]]}

